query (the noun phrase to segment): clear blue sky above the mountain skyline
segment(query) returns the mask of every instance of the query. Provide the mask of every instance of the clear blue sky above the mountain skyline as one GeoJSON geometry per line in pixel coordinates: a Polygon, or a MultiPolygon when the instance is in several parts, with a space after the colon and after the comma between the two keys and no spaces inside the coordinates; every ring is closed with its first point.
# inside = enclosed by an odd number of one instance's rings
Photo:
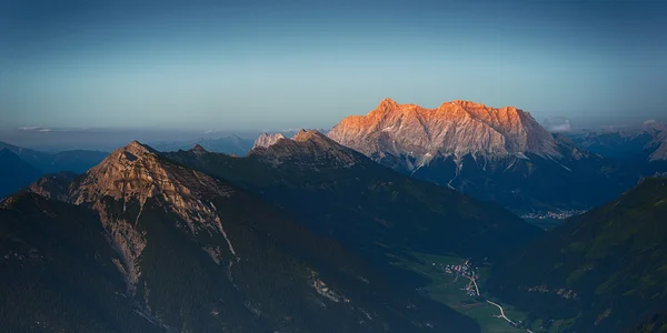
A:
{"type": "Polygon", "coordinates": [[[0,131],[330,128],[387,97],[661,120],[665,18],[658,0],[0,0],[0,131]]]}

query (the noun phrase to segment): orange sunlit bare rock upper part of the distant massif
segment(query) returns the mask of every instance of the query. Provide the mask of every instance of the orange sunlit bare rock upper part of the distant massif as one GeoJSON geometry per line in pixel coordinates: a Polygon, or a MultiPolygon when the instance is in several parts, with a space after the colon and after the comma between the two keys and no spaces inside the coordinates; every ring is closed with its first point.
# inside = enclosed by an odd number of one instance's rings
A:
{"type": "Polygon", "coordinates": [[[389,154],[416,161],[406,169],[419,168],[438,155],[561,158],[554,138],[530,113],[462,100],[426,109],[385,99],[367,115],[344,119],[328,137],[377,159],[389,154]]]}

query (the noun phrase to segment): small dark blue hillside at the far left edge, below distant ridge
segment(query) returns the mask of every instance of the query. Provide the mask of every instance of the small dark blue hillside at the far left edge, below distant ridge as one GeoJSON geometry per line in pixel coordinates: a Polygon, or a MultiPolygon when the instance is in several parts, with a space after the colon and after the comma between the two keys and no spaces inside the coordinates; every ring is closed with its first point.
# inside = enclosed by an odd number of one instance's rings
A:
{"type": "Polygon", "coordinates": [[[0,147],[0,199],[30,184],[40,172],[17,154],[0,147]]]}

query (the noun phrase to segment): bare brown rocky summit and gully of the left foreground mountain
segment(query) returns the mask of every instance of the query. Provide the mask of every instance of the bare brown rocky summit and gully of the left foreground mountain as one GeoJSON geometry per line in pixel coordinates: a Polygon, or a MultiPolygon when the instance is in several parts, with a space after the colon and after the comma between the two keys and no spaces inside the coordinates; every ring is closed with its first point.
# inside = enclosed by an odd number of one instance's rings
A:
{"type": "MultiPolygon", "coordinates": [[[[196,147],[193,150],[197,152],[203,149],[196,147]]],[[[40,186],[34,188],[33,192],[39,193],[37,190],[40,186]]],[[[157,199],[185,221],[191,234],[217,233],[227,239],[216,206],[203,198],[228,198],[232,194],[231,189],[205,173],[165,160],[159,152],[137,141],[116,150],[90,169],[67,194],[49,193],[52,198],[67,198],[67,201],[77,205],[89,205],[98,212],[123,260],[116,262],[116,265],[126,278],[129,294],[135,293],[141,276],[139,261],[146,248],[146,239],[137,224],[149,199],[157,199]],[[108,199],[120,202],[123,212],[109,211],[108,199]],[[138,203],[139,212],[130,221],[123,215],[125,206],[133,202],[138,203]]],[[[231,243],[229,251],[237,255],[231,243]]]]}

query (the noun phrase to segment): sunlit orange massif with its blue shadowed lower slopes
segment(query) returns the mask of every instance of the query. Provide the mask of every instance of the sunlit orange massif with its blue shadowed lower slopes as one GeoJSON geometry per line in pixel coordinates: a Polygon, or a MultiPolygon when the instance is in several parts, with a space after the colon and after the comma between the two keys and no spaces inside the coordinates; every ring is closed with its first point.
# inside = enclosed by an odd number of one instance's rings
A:
{"type": "Polygon", "coordinates": [[[609,181],[601,157],[549,134],[514,107],[457,100],[425,109],[385,99],[328,137],[397,171],[519,213],[588,209],[629,186],[609,181]]]}

